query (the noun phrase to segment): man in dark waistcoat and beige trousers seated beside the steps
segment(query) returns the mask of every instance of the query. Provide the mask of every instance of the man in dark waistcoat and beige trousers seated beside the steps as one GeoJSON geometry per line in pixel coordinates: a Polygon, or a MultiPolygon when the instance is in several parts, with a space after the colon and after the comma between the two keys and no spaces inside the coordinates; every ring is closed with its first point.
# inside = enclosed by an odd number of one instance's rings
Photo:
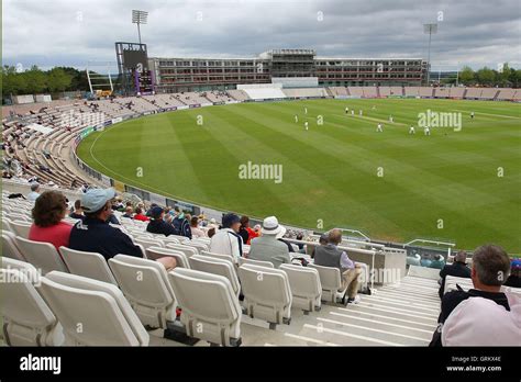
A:
{"type": "Polygon", "coordinates": [[[341,243],[342,231],[331,229],[328,235],[328,244],[314,248],[314,263],[322,267],[337,268],[342,274],[341,291],[345,290],[347,304],[357,304],[359,301],[357,292],[362,268],[348,258],[345,250],[337,248],[341,243]]]}

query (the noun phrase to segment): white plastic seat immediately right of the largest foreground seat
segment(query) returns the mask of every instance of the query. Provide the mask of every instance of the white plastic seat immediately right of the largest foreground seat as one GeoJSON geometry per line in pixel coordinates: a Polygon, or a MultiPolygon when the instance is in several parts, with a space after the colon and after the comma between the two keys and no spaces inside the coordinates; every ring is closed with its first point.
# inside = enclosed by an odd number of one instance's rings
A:
{"type": "Polygon", "coordinates": [[[176,300],[165,267],[154,260],[117,255],[109,267],[143,325],[166,328],[176,319],[176,300]]]}

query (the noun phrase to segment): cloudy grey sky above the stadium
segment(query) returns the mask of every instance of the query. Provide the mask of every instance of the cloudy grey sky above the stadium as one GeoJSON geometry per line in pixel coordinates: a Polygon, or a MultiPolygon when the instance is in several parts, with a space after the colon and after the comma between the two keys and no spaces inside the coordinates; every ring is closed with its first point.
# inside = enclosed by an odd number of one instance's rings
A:
{"type": "Polygon", "coordinates": [[[115,68],[114,42],[137,42],[148,12],[152,57],[254,57],[313,48],[319,57],[428,58],[434,70],[521,68],[519,0],[3,0],[2,64],[115,68]]]}

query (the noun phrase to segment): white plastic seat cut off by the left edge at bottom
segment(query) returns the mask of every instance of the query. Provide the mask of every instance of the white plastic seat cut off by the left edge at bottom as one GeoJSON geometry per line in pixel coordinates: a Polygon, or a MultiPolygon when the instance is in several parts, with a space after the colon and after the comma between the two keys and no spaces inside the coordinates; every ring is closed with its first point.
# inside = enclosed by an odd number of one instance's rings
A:
{"type": "MultiPolygon", "coordinates": [[[[3,267],[3,259],[2,259],[3,267]]],[[[60,346],[64,334],[56,316],[26,273],[0,269],[3,337],[10,346],[60,346]]]]}

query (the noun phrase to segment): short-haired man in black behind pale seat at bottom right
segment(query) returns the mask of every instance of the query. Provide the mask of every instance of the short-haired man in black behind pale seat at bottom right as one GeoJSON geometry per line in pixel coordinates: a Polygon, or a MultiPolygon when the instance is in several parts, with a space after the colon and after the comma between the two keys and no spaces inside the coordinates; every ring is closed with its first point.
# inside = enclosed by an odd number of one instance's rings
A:
{"type": "MultiPolygon", "coordinates": [[[[489,244],[477,248],[473,255],[473,269],[470,271],[474,289],[468,292],[458,289],[443,295],[442,308],[437,318],[439,326],[433,334],[430,346],[442,346],[441,333],[445,321],[456,306],[467,299],[486,299],[510,311],[508,299],[500,291],[509,271],[510,259],[501,247],[489,244]]],[[[476,317],[473,318],[476,319],[476,317]]]]}

